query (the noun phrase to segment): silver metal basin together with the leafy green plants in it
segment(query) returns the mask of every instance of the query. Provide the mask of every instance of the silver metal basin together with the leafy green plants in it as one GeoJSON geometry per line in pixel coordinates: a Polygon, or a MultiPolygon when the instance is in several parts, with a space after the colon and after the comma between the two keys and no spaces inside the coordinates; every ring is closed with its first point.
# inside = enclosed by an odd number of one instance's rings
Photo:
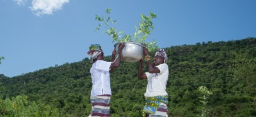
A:
{"type": "MultiPolygon", "coordinates": [[[[105,13],[108,15],[110,14],[111,8],[108,8],[105,13]]],[[[121,59],[124,61],[129,62],[135,62],[139,61],[141,57],[143,56],[143,49],[146,47],[148,51],[157,50],[158,46],[156,45],[155,40],[152,42],[145,42],[148,35],[151,34],[151,29],[154,29],[154,26],[152,25],[151,19],[157,18],[157,15],[150,12],[149,16],[145,16],[141,14],[141,22],[138,22],[138,27],[135,26],[135,32],[133,35],[123,35],[122,31],[117,32],[116,27],[112,27],[117,20],[112,20],[110,16],[104,17],[104,16],[98,16],[95,15],[95,20],[98,20],[100,23],[98,27],[96,27],[95,30],[99,30],[102,25],[105,25],[105,28],[108,30],[105,31],[111,38],[112,42],[116,42],[114,44],[114,47],[118,51],[118,43],[122,42],[125,44],[125,48],[122,50],[122,56],[121,59]]]]}

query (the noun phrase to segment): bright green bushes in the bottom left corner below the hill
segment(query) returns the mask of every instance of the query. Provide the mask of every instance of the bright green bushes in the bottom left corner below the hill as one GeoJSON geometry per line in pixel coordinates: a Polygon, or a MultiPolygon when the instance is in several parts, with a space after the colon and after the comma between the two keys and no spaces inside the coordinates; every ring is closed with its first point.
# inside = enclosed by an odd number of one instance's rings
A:
{"type": "Polygon", "coordinates": [[[41,102],[28,102],[26,95],[17,95],[12,98],[3,98],[0,89],[0,116],[58,116],[58,109],[50,105],[42,104],[41,102]]]}

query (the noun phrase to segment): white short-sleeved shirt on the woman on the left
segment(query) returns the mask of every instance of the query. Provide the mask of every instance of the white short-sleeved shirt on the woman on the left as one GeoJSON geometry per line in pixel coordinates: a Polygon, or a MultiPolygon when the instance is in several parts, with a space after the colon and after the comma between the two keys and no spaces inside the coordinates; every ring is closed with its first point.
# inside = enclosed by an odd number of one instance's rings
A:
{"type": "Polygon", "coordinates": [[[92,64],[90,73],[92,77],[91,97],[97,95],[111,95],[109,67],[111,62],[97,60],[92,64]]]}

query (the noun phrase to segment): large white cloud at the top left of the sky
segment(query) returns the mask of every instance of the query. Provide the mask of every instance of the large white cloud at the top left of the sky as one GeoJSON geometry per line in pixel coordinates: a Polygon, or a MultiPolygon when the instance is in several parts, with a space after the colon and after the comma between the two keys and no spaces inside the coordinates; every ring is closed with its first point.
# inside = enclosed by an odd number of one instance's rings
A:
{"type": "MultiPolygon", "coordinates": [[[[15,0],[15,1],[26,1],[26,0],[15,0]]],[[[29,7],[32,12],[36,15],[51,15],[52,12],[58,11],[62,8],[65,3],[69,0],[33,0],[32,6],[29,7]]]]}

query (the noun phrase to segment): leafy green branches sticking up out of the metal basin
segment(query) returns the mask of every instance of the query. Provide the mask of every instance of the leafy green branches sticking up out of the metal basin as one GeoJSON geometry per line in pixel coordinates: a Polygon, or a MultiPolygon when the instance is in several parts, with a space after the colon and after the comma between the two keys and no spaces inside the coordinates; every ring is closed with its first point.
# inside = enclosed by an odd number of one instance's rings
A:
{"type": "MultiPolygon", "coordinates": [[[[105,13],[110,14],[110,11],[111,8],[108,8],[105,13]]],[[[157,50],[158,46],[155,40],[153,40],[152,42],[146,42],[148,35],[150,35],[152,32],[151,29],[154,29],[153,22],[151,21],[151,19],[153,18],[157,18],[157,15],[155,15],[155,13],[150,12],[149,16],[141,14],[141,22],[138,22],[138,27],[135,26],[134,34],[132,36],[127,34],[125,34],[124,36],[120,36],[123,32],[117,32],[117,28],[112,27],[112,25],[115,24],[117,20],[112,20],[110,16],[107,16],[106,18],[104,16],[96,15],[95,20],[98,20],[100,23],[95,30],[99,30],[102,26],[101,24],[103,24],[106,28],[108,28],[105,33],[107,33],[112,38],[112,42],[135,42],[147,47],[148,51],[157,50]]]]}

